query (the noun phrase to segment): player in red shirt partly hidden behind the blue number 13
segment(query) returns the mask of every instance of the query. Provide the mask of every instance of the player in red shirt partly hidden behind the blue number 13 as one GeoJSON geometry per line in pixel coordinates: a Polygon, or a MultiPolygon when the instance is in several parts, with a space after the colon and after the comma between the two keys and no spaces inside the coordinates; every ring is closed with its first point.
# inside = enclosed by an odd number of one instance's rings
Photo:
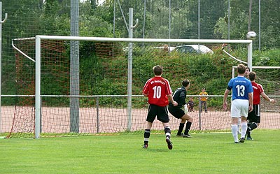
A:
{"type": "Polygon", "coordinates": [[[253,111],[248,113],[248,129],[246,131],[246,135],[247,140],[253,140],[253,138],[251,138],[251,131],[260,125],[260,96],[270,103],[275,103],[276,101],[274,99],[269,99],[267,94],[265,94],[262,85],[255,82],[255,72],[252,71],[249,73],[248,78],[251,80],[253,86],[253,111]]]}

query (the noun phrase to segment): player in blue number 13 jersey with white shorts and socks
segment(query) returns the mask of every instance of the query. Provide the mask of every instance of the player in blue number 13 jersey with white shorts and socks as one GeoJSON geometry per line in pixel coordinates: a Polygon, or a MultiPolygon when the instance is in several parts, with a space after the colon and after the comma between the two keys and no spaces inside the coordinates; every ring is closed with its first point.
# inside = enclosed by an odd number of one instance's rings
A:
{"type": "Polygon", "coordinates": [[[248,112],[253,110],[253,87],[251,81],[244,78],[244,73],[246,71],[246,66],[239,64],[237,66],[238,76],[232,78],[228,82],[228,88],[225,89],[225,94],[223,96],[223,108],[227,110],[228,108],[228,94],[232,90],[232,104],[231,104],[231,117],[232,117],[232,136],[235,139],[235,143],[244,143],[247,122],[246,117],[248,112]],[[241,117],[241,137],[238,141],[238,118],[241,117]]]}

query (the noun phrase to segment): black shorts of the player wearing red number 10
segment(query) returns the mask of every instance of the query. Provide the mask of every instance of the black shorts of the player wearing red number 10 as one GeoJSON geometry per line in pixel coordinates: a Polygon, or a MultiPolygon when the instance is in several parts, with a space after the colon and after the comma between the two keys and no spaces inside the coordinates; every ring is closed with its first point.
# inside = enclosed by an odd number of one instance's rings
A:
{"type": "Polygon", "coordinates": [[[167,106],[150,105],[148,107],[148,116],[146,121],[153,122],[155,120],[155,117],[157,117],[160,122],[168,123],[169,116],[167,106]]]}

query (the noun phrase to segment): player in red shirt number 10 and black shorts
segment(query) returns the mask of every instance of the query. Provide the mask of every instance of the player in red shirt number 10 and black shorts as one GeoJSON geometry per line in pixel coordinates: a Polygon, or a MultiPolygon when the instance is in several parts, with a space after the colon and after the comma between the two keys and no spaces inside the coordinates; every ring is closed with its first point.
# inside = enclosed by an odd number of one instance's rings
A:
{"type": "Polygon", "coordinates": [[[169,85],[169,81],[165,78],[162,78],[162,67],[159,65],[154,66],[153,73],[155,74],[155,77],[147,80],[143,89],[143,94],[144,96],[148,96],[149,103],[143,148],[148,148],[148,140],[151,135],[153,121],[155,120],[155,117],[157,117],[157,119],[160,120],[160,122],[162,122],[163,126],[165,127],[167,147],[169,150],[172,150],[173,145],[170,140],[171,130],[169,126],[167,105],[169,101],[172,102],[174,106],[177,106],[178,103],[172,98],[172,89],[169,85]]]}

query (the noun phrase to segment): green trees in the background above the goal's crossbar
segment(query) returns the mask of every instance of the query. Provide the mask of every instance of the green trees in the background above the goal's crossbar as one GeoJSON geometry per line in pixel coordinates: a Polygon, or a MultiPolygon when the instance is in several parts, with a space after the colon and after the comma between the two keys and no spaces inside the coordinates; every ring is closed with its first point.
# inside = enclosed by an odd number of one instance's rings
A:
{"type": "MultiPolygon", "coordinates": [[[[3,12],[9,15],[3,33],[13,37],[70,35],[71,0],[2,2],[3,12]]],[[[258,0],[230,0],[230,8],[228,4],[229,0],[203,0],[200,6],[197,0],[106,0],[99,6],[96,0],[85,0],[79,3],[79,31],[80,36],[126,38],[125,21],[129,8],[134,8],[134,19],[139,19],[135,38],[170,35],[170,38],[245,39],[248,30],[258,33],[258,0]]],[[[261,45],[279,48],[280,1],[267,0],[260,5],[261,45]]]]}

